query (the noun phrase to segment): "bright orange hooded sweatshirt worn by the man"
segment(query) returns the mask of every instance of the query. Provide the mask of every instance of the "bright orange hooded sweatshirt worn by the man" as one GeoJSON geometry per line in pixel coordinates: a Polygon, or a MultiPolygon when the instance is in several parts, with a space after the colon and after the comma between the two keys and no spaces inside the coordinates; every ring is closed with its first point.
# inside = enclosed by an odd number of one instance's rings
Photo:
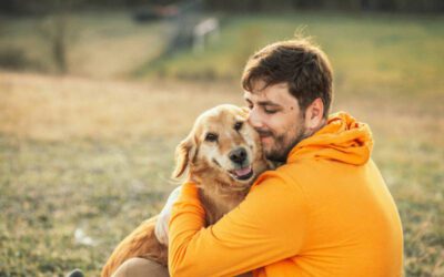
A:
{"type": "Polygon", "coordinates": [[[366,124],[337,113],[204,227],[195,185],[172,208],[172,276],[401,276],[403,234],[366,124]]]}

